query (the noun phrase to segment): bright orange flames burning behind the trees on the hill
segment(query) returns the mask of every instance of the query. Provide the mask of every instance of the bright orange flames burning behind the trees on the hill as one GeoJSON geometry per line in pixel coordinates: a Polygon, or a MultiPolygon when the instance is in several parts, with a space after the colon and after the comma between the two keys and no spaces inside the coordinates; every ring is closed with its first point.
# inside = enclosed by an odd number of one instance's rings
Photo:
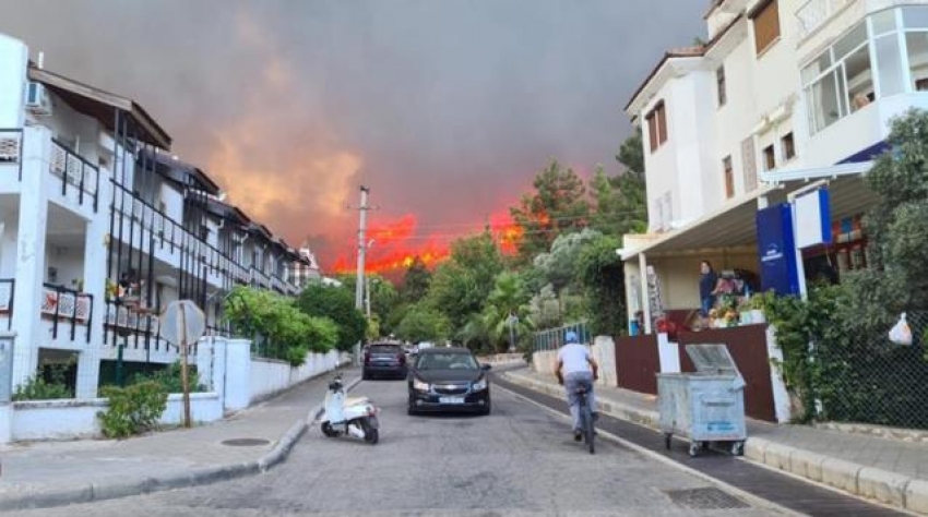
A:
{"type": "MultiPolygon", "coordinates": [[[[512,223],[507,212],[490,216],[490,232],[503,253],[515,251],[515,243],[522,235],[521,228],[512,223]]],[[[451,243],[457,239],[474,236],[484,230],[484,225],[436,225],[419,226],[414,214],[398,219],[370,225],[367,232],[369,243],[365,260],[368,273],[390,274],[409,267],[416,257],[428,267],[433,267],[448,258],[451,243]]],[[[340,255],[332,266],[334,273],[355,273],[357,252],[340,255]]]]}

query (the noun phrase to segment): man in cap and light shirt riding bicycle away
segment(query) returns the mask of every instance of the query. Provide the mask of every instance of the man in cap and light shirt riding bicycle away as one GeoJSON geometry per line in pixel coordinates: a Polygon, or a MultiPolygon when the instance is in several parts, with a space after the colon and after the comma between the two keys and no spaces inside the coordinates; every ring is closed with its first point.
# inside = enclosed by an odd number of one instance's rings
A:
{"type": "Polygon", "coordinates": [[[586,388],[586,400],[590,404],[593,419],[596,419],[596,401],[593,398],[593,382],[599,378],[599,365],[590,354],[590,350],[581,345],[576,333],[568,330],[564,345],[558,350],[558,365],[555,369],[558,383],[567,388],[567,404],[570,416],[573,417],[573,440],[580,442],[583,437],[580,424],[580,395],[578,388],[586,388]]]}

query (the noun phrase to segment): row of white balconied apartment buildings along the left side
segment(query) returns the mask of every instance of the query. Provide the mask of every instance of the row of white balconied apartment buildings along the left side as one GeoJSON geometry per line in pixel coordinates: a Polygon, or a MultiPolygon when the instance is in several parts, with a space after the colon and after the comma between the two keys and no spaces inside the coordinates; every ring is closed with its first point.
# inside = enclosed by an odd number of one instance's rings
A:
{"type": "Polygon", "coordinates": [[[44,70],[0,34],[0,328],[16,333],[13,385],[73,364],[95,397],[119,349],[133,364],[177,357],[158,333],[172,300],[194,300],[211,332],[236,285],[296,294],[306,263],[225,203],[132,99],[44,70]]]}

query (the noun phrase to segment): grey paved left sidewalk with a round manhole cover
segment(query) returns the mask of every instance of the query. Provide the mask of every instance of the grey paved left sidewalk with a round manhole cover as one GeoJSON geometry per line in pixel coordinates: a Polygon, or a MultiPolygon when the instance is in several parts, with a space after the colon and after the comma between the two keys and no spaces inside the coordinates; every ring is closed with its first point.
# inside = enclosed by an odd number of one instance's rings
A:
{"type": "MultiPolygon", "coordinates": [[[[360,380],[346,372],[346,386],[360,380]]],[[[136,495],[258,473],[283,460],[321,412],[331,374],[222,421],[124,441],[0,446],[0,512],[136,495]],[[260,445],[226,445],[251,438],[260,445]]]]}

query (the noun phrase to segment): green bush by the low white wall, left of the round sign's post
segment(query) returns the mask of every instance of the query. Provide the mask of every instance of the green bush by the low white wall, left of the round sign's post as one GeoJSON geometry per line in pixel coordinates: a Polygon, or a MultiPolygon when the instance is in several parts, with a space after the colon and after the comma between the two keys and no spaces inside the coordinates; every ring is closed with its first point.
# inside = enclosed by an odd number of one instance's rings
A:
{"type": "Polygon", "coordinates": [[[106,386],[100,395],[109,399],[109,408],[97,417],[103,434],[110,438],[121,440],[155,429],[167,409],[167,392],[154,381],[124,388],[106,386]]]}

